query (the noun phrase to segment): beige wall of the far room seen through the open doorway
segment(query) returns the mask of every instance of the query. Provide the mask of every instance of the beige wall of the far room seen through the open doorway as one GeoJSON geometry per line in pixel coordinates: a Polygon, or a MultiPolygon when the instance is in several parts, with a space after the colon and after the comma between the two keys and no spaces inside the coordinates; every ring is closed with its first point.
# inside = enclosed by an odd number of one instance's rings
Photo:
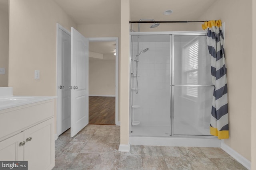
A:
{"type": "Polygon", "coordinates": [[[89,59],[89,95],[116,95],[116,61],[104,57],[89,59]]]}

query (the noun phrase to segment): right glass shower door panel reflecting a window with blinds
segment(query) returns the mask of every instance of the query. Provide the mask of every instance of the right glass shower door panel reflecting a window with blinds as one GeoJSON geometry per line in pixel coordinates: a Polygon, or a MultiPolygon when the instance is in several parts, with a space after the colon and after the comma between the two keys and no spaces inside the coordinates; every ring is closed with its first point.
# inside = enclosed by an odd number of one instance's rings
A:
{"type": "Polygon", "coordinates": [[[210,56],[205,35],[172,35],[172,135],[209,135],[210,56]]]}

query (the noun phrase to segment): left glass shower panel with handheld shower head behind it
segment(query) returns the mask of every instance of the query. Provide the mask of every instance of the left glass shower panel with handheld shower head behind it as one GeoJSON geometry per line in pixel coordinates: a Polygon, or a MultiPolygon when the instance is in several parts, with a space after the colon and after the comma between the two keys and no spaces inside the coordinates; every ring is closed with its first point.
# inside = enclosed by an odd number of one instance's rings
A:
{"type": "Polygon", "coordinates": [[[130,136],[168,137],[170,35],[139,38],[131,36],[130,136]]]}

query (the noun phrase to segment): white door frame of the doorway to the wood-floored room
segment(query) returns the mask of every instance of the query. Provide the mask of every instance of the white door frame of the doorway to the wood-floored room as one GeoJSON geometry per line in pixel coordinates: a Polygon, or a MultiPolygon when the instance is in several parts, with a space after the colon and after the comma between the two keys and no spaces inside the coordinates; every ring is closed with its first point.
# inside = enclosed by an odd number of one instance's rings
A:
{"type": "Polygon", "coordinates": [[[115,93],[115,123],[116,125],[120,125],[118,121],[118,70],[119,70],[119,53],[118,53],[118,37],[92,37],[88,38],[89,43],[95,41],[115,41],[116,42],[116,93],[115,93]]]}

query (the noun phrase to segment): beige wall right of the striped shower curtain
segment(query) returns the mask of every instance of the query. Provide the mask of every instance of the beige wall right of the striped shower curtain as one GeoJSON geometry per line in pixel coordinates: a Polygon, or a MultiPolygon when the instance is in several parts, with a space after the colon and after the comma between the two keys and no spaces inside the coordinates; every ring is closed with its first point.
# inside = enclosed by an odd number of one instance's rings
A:
{"type": "Polygon", "coordinates": [[[225,22],[230,138],[224,143],[251,160],[252,1],[217,0],[200,20],[225,22]]]}

